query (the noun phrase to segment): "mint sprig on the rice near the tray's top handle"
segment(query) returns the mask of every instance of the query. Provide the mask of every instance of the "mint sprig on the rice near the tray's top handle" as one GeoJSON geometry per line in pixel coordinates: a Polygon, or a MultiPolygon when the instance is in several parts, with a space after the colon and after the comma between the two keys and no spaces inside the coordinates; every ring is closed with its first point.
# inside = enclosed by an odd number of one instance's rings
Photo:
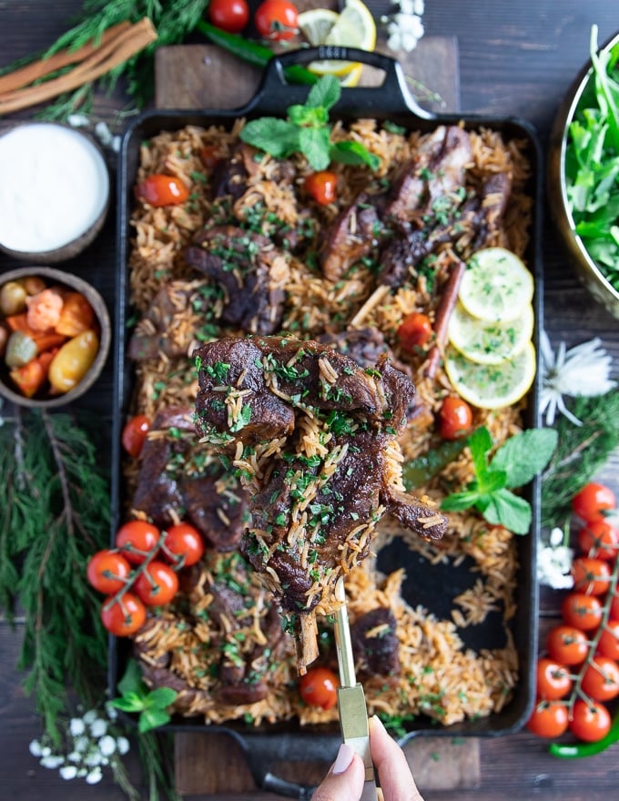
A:
{"type": "Polygon", "coordinates": [[[259,117],[250,120],[240,137],[270,156],[287,158],[302,153],[315,170],[326,169],[331,161],[366,165],[376,169],[381,159],[360,142],[331,143],[330,108],[340,99],[341,88],[334,76],[321,76],[309,89],[305,104],[289,106],[287,118],[259,117]]]}

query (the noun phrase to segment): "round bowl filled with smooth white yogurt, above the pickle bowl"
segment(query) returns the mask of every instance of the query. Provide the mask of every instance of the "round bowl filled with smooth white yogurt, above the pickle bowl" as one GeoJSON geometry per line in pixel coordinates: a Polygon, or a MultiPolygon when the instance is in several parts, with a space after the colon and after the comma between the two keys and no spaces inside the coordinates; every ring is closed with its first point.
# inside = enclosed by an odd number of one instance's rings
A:
{"type": "Polygon", "coordinates": [[[15,259],[73,259],[103,227],[109,175],[84,132],[50,122],[9,128],[0,136],[0,175],[0,249],[15,259]]]}

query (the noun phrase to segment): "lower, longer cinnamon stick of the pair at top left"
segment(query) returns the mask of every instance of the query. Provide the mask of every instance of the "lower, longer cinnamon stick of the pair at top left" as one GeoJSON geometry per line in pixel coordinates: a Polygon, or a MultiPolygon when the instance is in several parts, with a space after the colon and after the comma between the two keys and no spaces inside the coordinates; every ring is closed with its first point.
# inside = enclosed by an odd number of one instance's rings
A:
{"type": "Polygon", "coordinates": [[[94,48],[91,55],[77,64],[66,75],[52,78],[38,86],[27,86],[0,95],[0,116],[21,111],[29,106],[46,103],[52,97],[76,89],[106,75],[131,56],[157,40],[157,31],[144,17],[114,35],[107,43],[94,48]]]}

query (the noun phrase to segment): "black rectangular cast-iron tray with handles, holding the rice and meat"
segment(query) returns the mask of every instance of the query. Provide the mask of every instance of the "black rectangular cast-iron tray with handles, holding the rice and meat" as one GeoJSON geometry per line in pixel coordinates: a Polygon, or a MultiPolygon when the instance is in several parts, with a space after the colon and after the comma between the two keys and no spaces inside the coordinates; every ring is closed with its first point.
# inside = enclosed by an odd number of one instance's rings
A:
{"type": "MultiPolygon", "coordinates": [[[[533,343],[539,352],[539,337],[543,329],[543,272],[540,257],[541,242],[541,198],[542,198],[542,153],[535,130],[527,121],[516,117],[482,117],[474,115],[435,115],[417,105],[406,86],[400,64],[389,56],[378,53],[343,47],[320,47],[298,50],[278,56],[271,60],[264,72],[256,95],[246,106],[218,110],[165,110],[152,111],[137,117],[127,128],[119,154],[118,170],[118,267],[117,267],[117,340],[115,352],[115,391],[117,408],[114,421],[113,458],[116,470],[112,486],[113,526],[115,532],[119,525],[123,508],[123,480],[120,469],[120,433],[127,420],[128,404],[131,397],[131,366],[125,357],[126,330],[129,309],[127,308],[127,265],[130,248],[130,215],[133,208],[133,186],[137,175],[139,146],[142,141],[165,130],[176,130],[187,125],[209,126],[230,125],[238,117],[251,119],[265,115],[283,116],[286,108],[294,103],[304,103],[308,94],[307,86],[293,86],[287,83],[284,69],[290,64],[307,64],[316,59],[344,59],[360,61],[376,67],[384,73],[381,86],[343,88],[340,102],[330,110],[330,119],[352,120],[358,117],[389,119],[396,125],[409,130],[428,132],[441,124],[461,123],[468,130],[492,128],[507,139],[517,139],[527,151],[531,163],[531,177],[528,192],[533,198],[533,218],[530,242],[526,259],[533,269],[535,279],[535,331],[533,343]]],[[[526,425],[539,427],[538,396],[540,389],[539,370],[527,407],[526,425]]],[[[501,712],[489,717],[469,720],[451,726],[433,723],[430,719],[417,718],[401,737],[401,744],[415,736],[434,735],[448,737],[498,736],[518,731],[530,715],[534,701],[534,666],[537,656],[537,618],[538,586],[536,573],[536,548],[540,528],[540,482],[539,478],[526,488],[528,500],[533,507],[532,530],[528,536],[517,538],[519,568],[517,613],[512,621],[513,642],[520,662],[520,680],[511,702],[501,712]]],[[[392,551],[383,549],[383,567],[389,563],[400,567],[402,560],[406,565],[407,582],[404,594],[408,593],[411,603],[436,607],[441,596],[452,598],[472,584],[471,573],[466,560],[459,567],[445,569],[441,566],[424,564],[421,556],[408,549],[406,553],[398,550],[397,543],[392,551]],[[431,602],[431,603],[430,603],[431,602]]],[[[448,607],[449,608],[449,607],[448,607]]],[[[440,610],[439,610],[440,611],[440,610]]],[[[470,627],[474,629],[474,626],[470,627]]],[[[497,631],[500,626],[497,626],[497,631]]],[[[467,642],[470,634],[459,632],[467,642]]],[[[473,639],[467,644],[478,647],[473,639]]],[[[489,647],[501,647],[492,642],[492,622],[484,627],[484,637],[489,647]],[[488,628],[491,630],[488,631],[488,628]]],[[[117,681],[122,675],[127,656],[127,643],[112,638],[109,658],[109,689],[112,696],[117,695],[117,681]]],[[[325,760],[330,761],[340,742],[339,730],[333,726],[301,727],[298,723],[282,725],[262,725],[258,728],[238,723],[206,726],[201,718],[178,718],[165,727],[170,731],[226,732],[235,737],[248,757],[249,767],[259,786],[289,797],[309,797],[309,788],[280,780],[270,773],[270,765],[280,759],[286,760],[325,760]]]]}

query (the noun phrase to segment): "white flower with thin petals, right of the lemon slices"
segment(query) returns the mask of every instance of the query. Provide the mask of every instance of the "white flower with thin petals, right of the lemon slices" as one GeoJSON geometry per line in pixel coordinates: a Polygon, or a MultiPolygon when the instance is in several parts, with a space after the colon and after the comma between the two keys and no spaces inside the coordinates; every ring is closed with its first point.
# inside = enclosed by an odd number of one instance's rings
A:
{"type": "Polygon", "coordinates": [[[582,425],[566,408],[563,395],[590,398],[604,395],[616,386],[616,381],[609,378],[612,359],[600,345],[601,340],[596,337],[566,351],[561,342],[554,354],[548,335],[542,332],[540,411],[546,415],[546,425],[553,425],[557,410],[574,425],[582,425]]]}

